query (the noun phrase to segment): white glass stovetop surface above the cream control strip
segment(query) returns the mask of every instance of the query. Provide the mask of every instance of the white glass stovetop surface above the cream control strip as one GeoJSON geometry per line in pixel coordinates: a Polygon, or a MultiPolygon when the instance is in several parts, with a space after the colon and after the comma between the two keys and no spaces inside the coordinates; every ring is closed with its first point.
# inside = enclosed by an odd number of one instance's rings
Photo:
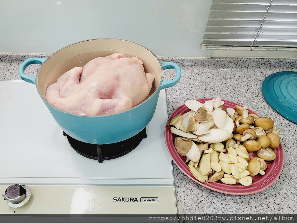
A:
{"type": "MultiPolygon", "coordinates": [[[[69,145],[35,85],[0,81],[0,184],[173,185],[164,141],[165,90],[131,153],[104,161],[85,158],[69,145]]],[[[116,133],[115,133],[116,134],[116,133]]]]}

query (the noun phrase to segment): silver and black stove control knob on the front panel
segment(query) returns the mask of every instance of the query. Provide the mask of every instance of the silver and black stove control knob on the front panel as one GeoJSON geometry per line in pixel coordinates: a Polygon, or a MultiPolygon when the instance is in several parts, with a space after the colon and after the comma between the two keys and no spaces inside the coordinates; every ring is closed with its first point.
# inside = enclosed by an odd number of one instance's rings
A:
{"type": "Polygon", "coordinates": [[[31,189],[28,186],[16,183],[9,186],[2,196],[7,200],[7,204],[10,207],[18,208],[28,202],[31,196],[31,189]]]}

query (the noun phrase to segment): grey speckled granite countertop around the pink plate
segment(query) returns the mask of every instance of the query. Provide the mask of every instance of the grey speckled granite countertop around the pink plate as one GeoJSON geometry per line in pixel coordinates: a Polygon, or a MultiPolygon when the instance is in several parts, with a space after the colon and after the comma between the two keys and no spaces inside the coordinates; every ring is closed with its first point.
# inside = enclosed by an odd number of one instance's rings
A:
{"type": "MultiPolygon", "coordinates": [[[[18,67],[30,57],[42,54],[0,54],[0,80],[20,80],[18,67]]],[[[297,125],[275,112],[263,98],[263,80],[279,71],[297,71],[294,59],[244,58],[168,58],[181,67],[179,83],[166,89],[168,116],[188,99],[216,98],[230,100],[260,116],[271,117],[280,130],[285,163],[277,181],[256,194],[228,195],[207,189],[189,179],[173,163],[178,213],[297,213],[297,125]]],[[[39,65],[30,65],[28,74],[36,74],[39,65]]],[[[165,79],[175,71],[165,70],[165,79]]]]}

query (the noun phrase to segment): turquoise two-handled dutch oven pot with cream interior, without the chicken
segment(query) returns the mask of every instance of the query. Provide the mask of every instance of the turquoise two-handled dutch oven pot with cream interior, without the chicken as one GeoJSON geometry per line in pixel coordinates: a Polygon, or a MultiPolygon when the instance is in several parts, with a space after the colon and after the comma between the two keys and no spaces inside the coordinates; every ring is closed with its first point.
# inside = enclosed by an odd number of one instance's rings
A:
{"type": "Polygon", "coordinates": [[[66,46],[48,58],[29,58],[19,67],[20,77],[35,84],[43,102],[62,130],[74,139],[91,144],[110,144],[129,139],[143,130],[151,121],[161,89],[176,85],[181,77],[181,69],[176,63],[161,62],[148,49],[136,43],[119,39],[86,40],[66,46]],[[45,98],[50,84],[73,67],[83,66],[98,56],[108,56],[122,52],[138,56],[143,60],[146,72],[155,76],[155,90],[137,106],[125,112],[104,116],[83,116],[57,109],[45,98]],[[41,64],[36,76],[24,74],[30,64],[41,64]],[[163,70],[173,68],[176,77],[163,79],[163,70]]]}

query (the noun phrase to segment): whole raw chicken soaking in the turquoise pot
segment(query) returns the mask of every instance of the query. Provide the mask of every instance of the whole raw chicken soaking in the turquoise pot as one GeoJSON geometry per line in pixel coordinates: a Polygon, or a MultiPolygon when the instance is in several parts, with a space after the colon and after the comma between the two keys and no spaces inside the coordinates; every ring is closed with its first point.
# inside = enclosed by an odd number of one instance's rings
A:
{"type": "Polygon", "coordinates": [[[154,76],[145,73],[137,57],[115,53],[74,67],[46,90],[57,108],[81,115],[107,115],[126,111],[149,94],[154,76]]]}

